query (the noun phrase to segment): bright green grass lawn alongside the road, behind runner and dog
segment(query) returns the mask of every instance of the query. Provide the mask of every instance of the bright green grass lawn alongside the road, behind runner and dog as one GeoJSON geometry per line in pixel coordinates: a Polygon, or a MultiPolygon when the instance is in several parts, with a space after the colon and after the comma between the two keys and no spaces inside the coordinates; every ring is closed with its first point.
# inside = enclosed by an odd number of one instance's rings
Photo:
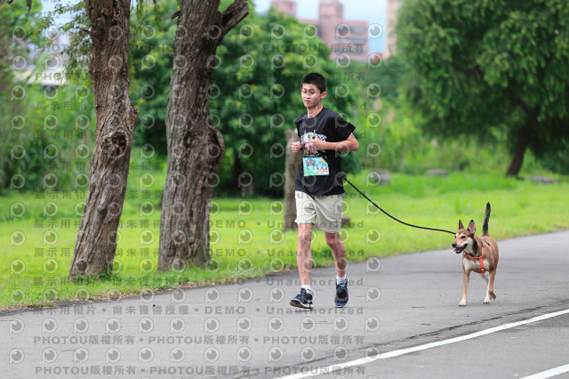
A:
{"type": "MultiPolygon", "coordinates": [[[[73,254],[80,216],[76,206],[85,193],[53,192],[38,198],[37,193],[7,192],[0,198],[0,309],[24,306],[51,306],[57,301],[103,299],[120,293],[138,294],[164,287],[203,286],[258,278],[271,271],[295,270],[296,233],[283,233],[282,201],[268,198],[214,198],[211,233],[212,262],[206,267],[188,267],[181,272],[156,273],[160,209],[159,190],[165,172],[132,170],[119,227],[120,242],[111,277],[85,283],[68,283],[68,266],[73,254]],[[145,173],[154,176],[148,188],[140,185],[145,173]],[[143,192],[142,189],[148,189],[143,192]],[[148,201],[154,213],[140,214],[140,204],[148,201]],[[44,217],[44,204],[53,202],[59,211],[44,217]],[[11,217],[14,203],[26,212],[11,217]],[[25,241],[12,246],[12,233],[25,233],[25,241]],[[49,245],[50,233],[57,242],[49,245]],[[142,244],[140,234],[150,230],[154,241],[142,244]],[[19,269],[20,263],[25,270],[19,269]],[[57,268],[55,268],[57,265],[57,268]]],[[[366,184],[365,173],[353,175],[358,187],[396,217],[423,226],[456,230],[458,220],[474,219],[478,229],[486,202],[492,204],[490,234],[497,239],[569,229],[569,183],[543,185],[506,179],[496,175],[452,173],[447,178],[392,174],[385,187],[366,184]]],[[[350,262],[369,256],[387,256],[430,249],[449,248],[453,237],[438,232],[416,230],[393,222],[369,206],[354,189],[346,186],[345,213],[351,224],[341,236],[350,262]],[[381,238],[380,238],[381,236],[381,238]]],[[[16,208],[18,210],[18,208],[16,208]]],[[[48,209],[51,210],[51,209],[48,209]]],[[[16,238],[17,239],[17,238],[16,238]]],[[[317,266],[333,263],[324,234],[313,240],[317,266]]]]}

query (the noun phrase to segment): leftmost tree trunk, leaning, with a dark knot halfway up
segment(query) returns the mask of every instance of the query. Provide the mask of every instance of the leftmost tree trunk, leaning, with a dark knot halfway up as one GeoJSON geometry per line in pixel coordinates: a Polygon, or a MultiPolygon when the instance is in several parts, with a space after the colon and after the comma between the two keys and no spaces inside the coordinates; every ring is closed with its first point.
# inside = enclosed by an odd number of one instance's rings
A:
{"type": "Polygon", "coordinates": [[[85,0],[91,20],[89,72],[97,115],[89,193],[77,233],[69,278],[100,278],[112,268],[138,116],[129,97],[130,0],[85,0]]]}

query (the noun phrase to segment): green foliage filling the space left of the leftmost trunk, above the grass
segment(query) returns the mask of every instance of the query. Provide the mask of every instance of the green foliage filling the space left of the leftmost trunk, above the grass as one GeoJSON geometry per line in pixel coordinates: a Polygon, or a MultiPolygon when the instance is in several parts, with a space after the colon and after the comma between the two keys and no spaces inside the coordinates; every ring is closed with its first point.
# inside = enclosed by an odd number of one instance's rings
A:
{"type": "MultiPolygon", "coordinates": [[[[57,31],[68,31],[81,25],[83,2],[75,5],[56,4],[47,17],[41,17],[41,2],[28,7],[12,3],[0,7],[0,40],[9,40],[7,57],[25,56],[28,77],[12,75],[12,66],[2,65],[7,74],[0,82],[0,92],[8,102],[7,111],[0,113],[3,138],[0,140],[0,184],[16,189],[85,189],[94,140],[94,110],[91,84],[68,77],[67,85],[32,84],[42,78],[48,62],[59,55],[73,68],[76,44],[65,54],[52,50],[50,36],[56,31],[53,16],[76,12],[74,22],[57,31]],[[14,93],[14,90],[16,91],[14,93]]],[[[71,40],[75,36],[71,36],[71,40]]],[[[0,43],[0,45],[4,45],[0,43]]],[[[47,75],[52,75],[49,72],[47,75]]],[[[83,76],[84,77],[84,76],[83,76]]],[[[0,187],[2,187],[0,185],[0,187]]]]}

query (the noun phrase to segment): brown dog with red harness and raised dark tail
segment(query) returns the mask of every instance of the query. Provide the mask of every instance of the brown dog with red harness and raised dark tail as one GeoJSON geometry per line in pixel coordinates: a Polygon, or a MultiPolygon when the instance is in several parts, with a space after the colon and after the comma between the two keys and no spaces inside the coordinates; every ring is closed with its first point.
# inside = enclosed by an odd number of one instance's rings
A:
{"type": "Polygon", "coordinates": [[[496,298],[494,294],[494,278],[496,277],[496,267],[498,266],[498,244],[494,238],[488,236],[488,220],[490,220],[490,203],[486,204],[484,224],[482,225],[482,237],[475,236],[477,227],[474,221],[470,220],[469,228],[464,229],[459,220],[459,231],[454,238],[454,253],[462,253],[462,300],[460,306],[466,305],[467,293],[469,291],[470,271],[477,272],[486,281],[486,297],[484,303],[490,302],[490,297],[496,298]]]}

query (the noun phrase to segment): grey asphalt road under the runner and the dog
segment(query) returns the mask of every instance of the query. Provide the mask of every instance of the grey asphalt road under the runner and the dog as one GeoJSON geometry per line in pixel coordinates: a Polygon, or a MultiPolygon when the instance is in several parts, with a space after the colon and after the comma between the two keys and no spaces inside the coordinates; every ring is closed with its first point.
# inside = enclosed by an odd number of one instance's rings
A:
{"type": "Polygon", "coordinates": [[[562,231],[499,241],[490,304],[473,274],[469,302],[458,306],[461,257],[449,241],[445,251],[350,264],[344,309],[333,306],[329,268],[313,273],[311,311],[288,305],[300,288],[294,272],[4,311],[1,376],[516,378],[562,367],[556,377],[569,377],[569,312],[552,315],[569,310],[568,239],[562,231]]]}

